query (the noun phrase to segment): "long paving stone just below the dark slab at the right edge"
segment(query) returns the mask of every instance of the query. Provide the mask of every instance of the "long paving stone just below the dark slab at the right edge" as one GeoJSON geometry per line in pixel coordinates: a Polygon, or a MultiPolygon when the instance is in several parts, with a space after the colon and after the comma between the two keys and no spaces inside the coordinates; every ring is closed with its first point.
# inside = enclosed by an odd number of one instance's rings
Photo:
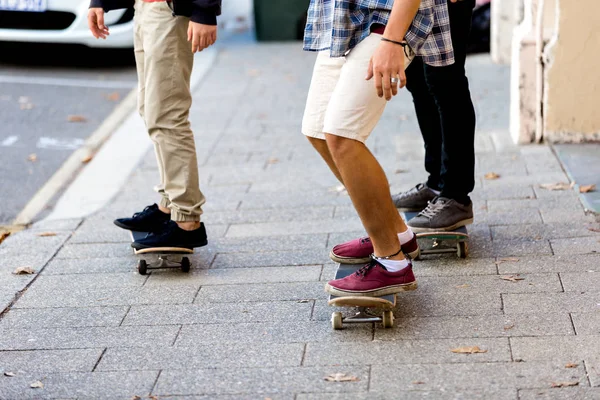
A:
{"type": "Polygon", "coordinates": [[[494,240],[541,240],[579,236],[597,236],[600,239],[600,234],[594,234],[585,225],[564,222],[521,225],[519,229],[515,229],[513,226],[494,226],[492,227],[492,236],[494,240]]]}

